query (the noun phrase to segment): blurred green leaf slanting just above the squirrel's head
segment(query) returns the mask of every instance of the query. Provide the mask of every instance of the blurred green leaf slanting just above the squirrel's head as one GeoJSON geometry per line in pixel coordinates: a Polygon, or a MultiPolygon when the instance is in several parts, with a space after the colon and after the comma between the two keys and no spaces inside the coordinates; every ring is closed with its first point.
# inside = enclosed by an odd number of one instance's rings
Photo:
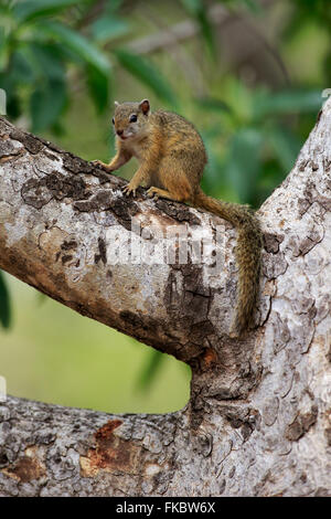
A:
{"type": "Polygon", "coordinates": [[[150,62],[125,50],[116,50],[115,55],[124,68],[149,86],[160,99],[177,106],[177,98],[171,86],[150,62]]]}

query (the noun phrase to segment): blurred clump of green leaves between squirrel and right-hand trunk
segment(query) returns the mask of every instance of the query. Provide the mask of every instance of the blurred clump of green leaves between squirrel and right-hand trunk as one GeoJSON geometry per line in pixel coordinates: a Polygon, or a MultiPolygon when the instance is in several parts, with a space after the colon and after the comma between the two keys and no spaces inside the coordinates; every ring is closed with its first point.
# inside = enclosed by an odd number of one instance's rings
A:
{"type": "Polygon", "coordinates": [[[225,96],[226,100],[195,99],[200,110],[218,114],[221,121],[218,129],[203,134],[210,156],[204,187],[218,194],[226,186],[239,202],[258,208],[293,167],[302,145],[290,118],[314,116],[322,104],[321,91],[248,89],[231,78],[225,96]],[[217,152],[224,137],[224,149],[217,152]]]}

